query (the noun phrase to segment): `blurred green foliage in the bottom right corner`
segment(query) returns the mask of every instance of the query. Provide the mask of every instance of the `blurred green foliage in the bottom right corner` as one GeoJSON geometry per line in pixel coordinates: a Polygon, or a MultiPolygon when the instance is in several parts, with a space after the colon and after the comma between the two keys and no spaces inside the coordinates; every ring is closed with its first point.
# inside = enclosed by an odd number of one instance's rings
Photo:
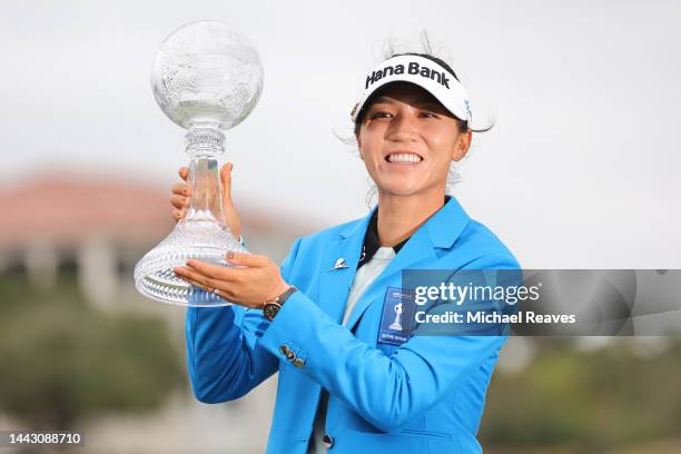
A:
{"type": "Polygon", "coordinates": [[[540,349],[526,369],[493,376],[485,445],[601,452],[681,437],[681,339],[648,358],[628,339],[593,352],[575,351],[570,338],[532,340],[540,349]]]}

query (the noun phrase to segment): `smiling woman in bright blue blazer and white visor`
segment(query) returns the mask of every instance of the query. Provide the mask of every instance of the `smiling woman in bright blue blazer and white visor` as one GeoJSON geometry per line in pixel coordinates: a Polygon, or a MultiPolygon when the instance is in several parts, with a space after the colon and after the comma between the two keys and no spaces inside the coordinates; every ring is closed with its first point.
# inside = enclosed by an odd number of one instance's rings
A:
{"type": "MultiPolygon", "coordinates": [[[[240,267],[175,269],[236,303],[187,312],[194,392],[230,401],[278,372],[268,453],[482,452],[475,434],[505,337],[411,335],[395,304],[404,269],[519,268],[445,196],[451,164],[471,146],[470,102],[452,69],[426,53],[393,56],[364,81],[352,117],[376,208],[298,238],[280,267],[230,254],[240,267]]],[[[221,171],[225,213],[239,236],[230,170],[221,171]]],[[[177,219],[188,195],[174,186],[177,219]]]]}

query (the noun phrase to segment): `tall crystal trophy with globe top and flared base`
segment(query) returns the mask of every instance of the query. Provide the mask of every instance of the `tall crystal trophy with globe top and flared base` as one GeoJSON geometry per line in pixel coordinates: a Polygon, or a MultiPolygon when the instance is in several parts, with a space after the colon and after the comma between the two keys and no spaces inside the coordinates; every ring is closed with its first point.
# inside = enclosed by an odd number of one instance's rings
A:
{"type": "Polygon", "coordinates": [[[185,218],[135,266],[145,296],[184,306],[226,306],[226,299],[178,278],[172,268],[194,258],[230,266],[228,251],[246,253],[223,216],[218,156],[224,130],[241,122],[263,91],[260,59],[248,40],[216,21],[180,27],[164,40],[151,71],[154,97],[164,114],[187,129],[187,181],[191,203],[185,218]]]}

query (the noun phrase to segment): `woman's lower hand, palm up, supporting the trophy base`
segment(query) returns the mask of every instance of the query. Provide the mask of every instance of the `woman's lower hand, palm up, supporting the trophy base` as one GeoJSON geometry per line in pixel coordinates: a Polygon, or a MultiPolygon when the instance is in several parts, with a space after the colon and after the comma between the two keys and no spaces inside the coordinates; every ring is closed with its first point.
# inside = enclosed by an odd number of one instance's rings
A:
{"type": "Polygon", "coordinates": [[[206,292],[219,290],[219,296],[244,307],[261,308],[289,287],[279,266],[269,257],[256,254],[229,253],[234,267],[216,266],[189,259],[186,267],[172,268],[175,274],[206,292]]]}

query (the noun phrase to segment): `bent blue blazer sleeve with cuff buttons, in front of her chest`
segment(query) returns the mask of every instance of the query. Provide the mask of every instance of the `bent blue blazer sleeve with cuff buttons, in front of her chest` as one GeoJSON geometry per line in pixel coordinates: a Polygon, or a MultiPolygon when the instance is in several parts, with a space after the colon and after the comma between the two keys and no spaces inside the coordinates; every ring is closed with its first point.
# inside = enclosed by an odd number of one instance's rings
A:
{"type": "MultiPolygon", "coordinates": [[[[473,260],[467,269],[516,269],[507,253],[473,260]]],[[[409,423],[438,402],[455,382],[494,355],[507,336],[413,336],[387,356],[357,339],[305,294],[296,292],[263,335],[273,355],[287,345],[298,371],[343,399],[384,432],[409,423]],[[453,354],[455,352],[455,354],[453,354]]],[[[290,362],[282,367],[290,367],[290,362]]]]}

